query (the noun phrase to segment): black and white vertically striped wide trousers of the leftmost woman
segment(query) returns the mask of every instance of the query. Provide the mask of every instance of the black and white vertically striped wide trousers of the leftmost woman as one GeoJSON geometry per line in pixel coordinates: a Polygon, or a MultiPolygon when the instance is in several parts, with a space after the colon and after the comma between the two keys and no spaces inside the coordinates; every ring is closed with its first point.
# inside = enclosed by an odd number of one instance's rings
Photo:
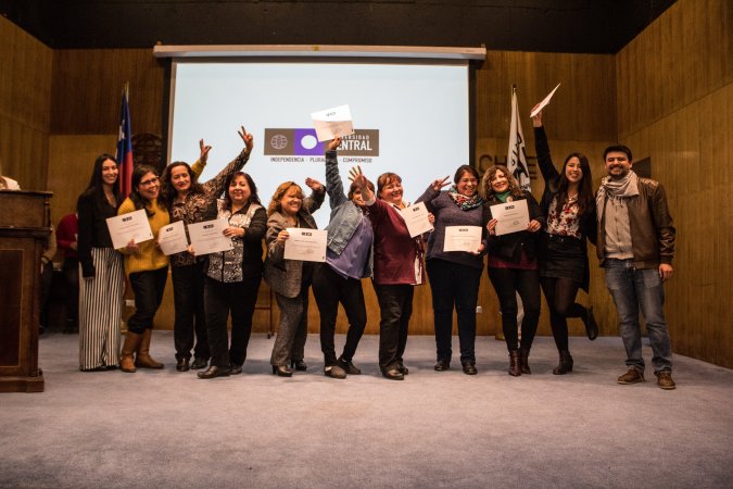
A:
{"type": "Polygon", "coordinates": [[[92,248],[91,260],[94,276],[79,278],[79,368],[83,371],[119,363],[123,258],[112,248],[92,248]]]}

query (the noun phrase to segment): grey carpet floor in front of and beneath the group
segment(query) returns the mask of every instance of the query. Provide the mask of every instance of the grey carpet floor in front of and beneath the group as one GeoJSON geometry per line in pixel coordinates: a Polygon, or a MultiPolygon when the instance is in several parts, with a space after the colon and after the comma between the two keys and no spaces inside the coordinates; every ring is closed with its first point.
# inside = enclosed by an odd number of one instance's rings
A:
{"type": "MultiPolygon", "coordinates": [[[[337,346],[343,344],[337,338],[337,346]]],[[[506,374],[503,342],[478,338],[479,375],[438,373],[434,340],[410,337],[404,381],[381,378],[378,338],[344,380],[269,373],[253,335],[244,373],[200,380],[174,368],[81,373],[77,336],[41,337],[43,393],[0,394],[0,487],[643,487],[733,486],[733,371],[675,356],[678,389],[619,386],[619,338],[572,338],[576,369],[552,375],[552,338],[533,374],[506,374]]],[[[454,338],[457,350],[457,338],[454,338]]],[[[650,350],[644,349],[647,363],[650,350]]]]}

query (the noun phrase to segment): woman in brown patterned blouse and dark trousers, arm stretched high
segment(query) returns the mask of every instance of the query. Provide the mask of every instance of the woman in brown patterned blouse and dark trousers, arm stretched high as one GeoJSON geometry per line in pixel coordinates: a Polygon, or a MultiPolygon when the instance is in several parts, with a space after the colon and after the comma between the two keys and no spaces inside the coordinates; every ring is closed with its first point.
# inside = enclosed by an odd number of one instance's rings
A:
{"type": "MultiPolygon", "coordinates": [[[[225,166],[214,178],[200,184],[198,175],[206,164],[211,146],[203,139],[199,142],[201,156],[193,164],[177,161],[163,172],[163,191],[170,222],[182,221],[187,226],[204,221],[205,214],[215,204],[216,199],[227,189],[226,181],[244,166],[252,151],[252,135],[244,127],[239,131],[244,148],[237,158],[225,166]]],[[[184,251],[169,256],[173,281],[175,321],[173,338],[176,348],[176,369],[205,368],[208,363],[208,341],[206,340],[206,315],[204,313],[204,259],[197,259],[184,251]],[[195,344],[194,344],[195,340],[195,344]],[[193,363],[191,361],[193,349],[193,363]]]]}

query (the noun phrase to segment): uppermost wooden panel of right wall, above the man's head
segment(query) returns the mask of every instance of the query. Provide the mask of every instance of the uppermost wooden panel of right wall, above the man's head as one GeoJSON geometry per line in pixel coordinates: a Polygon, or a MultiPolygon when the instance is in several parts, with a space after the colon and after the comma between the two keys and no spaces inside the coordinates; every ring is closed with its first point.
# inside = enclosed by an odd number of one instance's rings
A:
{"type": "Polygon", "coordinates": [[[733,2],[679,1],[616,55],[623,139],[733,80],[733,2]]]}

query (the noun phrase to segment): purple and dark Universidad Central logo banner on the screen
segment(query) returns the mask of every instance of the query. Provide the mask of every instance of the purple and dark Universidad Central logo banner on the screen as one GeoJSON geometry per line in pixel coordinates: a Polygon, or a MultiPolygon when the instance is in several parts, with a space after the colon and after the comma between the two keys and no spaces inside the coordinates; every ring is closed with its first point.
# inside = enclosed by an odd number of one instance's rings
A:
{"type": "MultiPolygon", "coordinates": [[[[312,128],[266,128],[265,155],[323,156],[324,145],[312,128]]],[[[379,129],[356,129],[339,147],[342,156],[379,156],[379,129]]]]}

